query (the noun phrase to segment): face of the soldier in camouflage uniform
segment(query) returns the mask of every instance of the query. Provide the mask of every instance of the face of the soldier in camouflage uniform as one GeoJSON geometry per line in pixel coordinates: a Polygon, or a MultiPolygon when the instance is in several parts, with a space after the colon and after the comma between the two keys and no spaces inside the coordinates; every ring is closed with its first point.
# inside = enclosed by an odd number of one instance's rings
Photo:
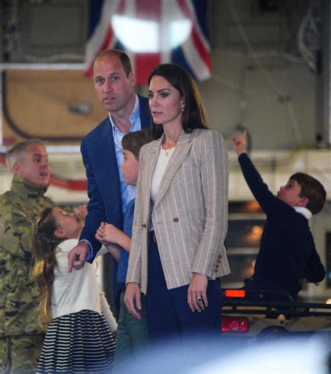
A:
{"type": "Polygon", "coordinates": [[[41,144],[29,144],[23,161],[14,163],[13,169],[17,176],[38,186],[47,186],[50,181],[47,151],[41,144]]]}

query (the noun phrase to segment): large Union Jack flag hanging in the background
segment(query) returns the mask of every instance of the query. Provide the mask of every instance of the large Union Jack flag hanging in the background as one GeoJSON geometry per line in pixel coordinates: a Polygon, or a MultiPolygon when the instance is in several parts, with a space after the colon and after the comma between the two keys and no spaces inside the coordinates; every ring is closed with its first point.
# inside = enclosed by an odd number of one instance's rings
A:
{"type": "Polygon", "coordinates": [[[177,63],[198,81],[211,76],[203,0],[91,0],[85,73],[99,50],[128,54],[137,84],[159,63],[177,63]]]}

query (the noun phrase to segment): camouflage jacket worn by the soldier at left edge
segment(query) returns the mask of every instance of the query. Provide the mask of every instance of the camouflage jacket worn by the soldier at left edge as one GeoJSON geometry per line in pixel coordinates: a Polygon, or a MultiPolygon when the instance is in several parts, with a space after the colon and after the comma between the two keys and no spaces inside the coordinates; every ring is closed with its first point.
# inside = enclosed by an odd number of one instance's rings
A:
{"type": "Polygon", "coordinates": [[[54,203],[47,186],[14,177],[0,196],[0,337],[39,334],[39,292],[32,280],[31,225],[54,203]]]}

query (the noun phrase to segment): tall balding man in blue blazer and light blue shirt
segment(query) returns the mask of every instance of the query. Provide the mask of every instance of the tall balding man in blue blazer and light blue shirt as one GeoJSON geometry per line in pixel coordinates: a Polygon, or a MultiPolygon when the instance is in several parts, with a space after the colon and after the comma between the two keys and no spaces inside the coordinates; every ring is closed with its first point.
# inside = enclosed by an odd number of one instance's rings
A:
{"type": "MultiPolygon", "coordinates": [[[[95,239],[101,222],[123,229],[126,204],[135,196],[135,186],[126,186],[120,171],[122,137],[150,126],[148,99],[135,94],[131,62],[119,50],[104,50],[96,55],[93,67],[94,88],[100,104],[109,115],[82,140],[82,159],[87,174],[87,218],[78,246],[68,255],[69,272],[92,262],[101,248],[95,239]]],[[[117,293],[117,264],[114,265],[113,297],[117,293]]]]}

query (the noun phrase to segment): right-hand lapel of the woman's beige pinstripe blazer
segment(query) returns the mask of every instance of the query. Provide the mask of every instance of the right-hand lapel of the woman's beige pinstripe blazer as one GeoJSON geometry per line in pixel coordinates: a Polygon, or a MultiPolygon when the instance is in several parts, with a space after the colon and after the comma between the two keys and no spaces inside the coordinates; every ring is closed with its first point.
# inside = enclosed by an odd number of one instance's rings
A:
{"type": "MultiPolygon", "coordinates": [[[[167,192],[170,186],[172,178],[175,176],[180,165],[182,165],[184,158],[189,153],[189,150],[192,147],[192,143],[189,142],[190,137],[191,137],[191,134],[190,133],[186,134],[184,133],[184,131],[179,136],[175,151],[170,158],[168,166],[165,168],[165,172],[163,174],[160,188],[159,188],[159,193],[156,196],[154,209],[157,207],[159,202],[161,202],[161,200],[163,199],[163,196],[165,195],[165,193],[167,192]]],[[[162,137],[162,140],[163,140],[163,137],[162,137]]]]}

